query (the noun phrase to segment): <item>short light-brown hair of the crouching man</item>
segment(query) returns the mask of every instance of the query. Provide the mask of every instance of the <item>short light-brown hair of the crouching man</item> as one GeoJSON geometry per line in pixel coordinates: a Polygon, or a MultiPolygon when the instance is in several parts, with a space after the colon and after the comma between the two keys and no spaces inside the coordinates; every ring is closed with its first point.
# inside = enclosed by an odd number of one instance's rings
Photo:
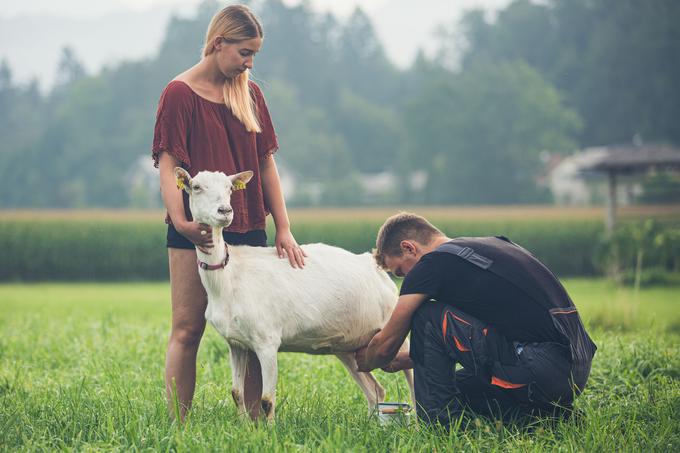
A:
{"type": "Polygon", "coordinates": [[[401,241],[412,240],[420,244],[429,244],[436,236],[444,236],[437,227],[417,214],[400,212],[385,220],[378,231],[373,257],[383,269],[386,256],[401,256],[401,241]]]}

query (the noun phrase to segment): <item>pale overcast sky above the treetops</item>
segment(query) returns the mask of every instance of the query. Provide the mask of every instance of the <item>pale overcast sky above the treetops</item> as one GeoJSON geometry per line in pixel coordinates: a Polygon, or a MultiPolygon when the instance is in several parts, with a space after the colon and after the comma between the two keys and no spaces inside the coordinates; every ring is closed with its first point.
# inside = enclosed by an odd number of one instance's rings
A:
{"type": "MultiPolygon", "coordinates": [[[[72,47],[89,73],[152,55],[172,14],[191,15],[201,0],[0,0],[0,59],[15,81],[49,87],[61,48],[72,47]]],[[[294,5],[300,0],[284,0],[294,5]]],[[[343,19],[357,5],[373,20],[389,58],[408,66],[418,48],[432,52],[434,30],[470,8],[490,12],[509,0],[310,0],[343,19]]]]}

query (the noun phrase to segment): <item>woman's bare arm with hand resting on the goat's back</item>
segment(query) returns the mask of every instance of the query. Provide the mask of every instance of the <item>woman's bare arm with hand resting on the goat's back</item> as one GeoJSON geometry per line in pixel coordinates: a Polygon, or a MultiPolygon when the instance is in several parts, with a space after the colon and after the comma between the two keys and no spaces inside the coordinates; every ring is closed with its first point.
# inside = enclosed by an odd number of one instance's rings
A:
{"type": "Polygon", "coordinates": [[[290,265],[302,268],[305,265],[307,254],[300,248],[290,231],[290,220],[288,219],[286,202],[283,200],[279,171],[271,154],[260,163],[260,177],[262,178],[264,202],[269,207],[274,218],[274,225],[276,225],[275,244],[279,258],[284,257],[285,251],[290,260],[290,265]]]}

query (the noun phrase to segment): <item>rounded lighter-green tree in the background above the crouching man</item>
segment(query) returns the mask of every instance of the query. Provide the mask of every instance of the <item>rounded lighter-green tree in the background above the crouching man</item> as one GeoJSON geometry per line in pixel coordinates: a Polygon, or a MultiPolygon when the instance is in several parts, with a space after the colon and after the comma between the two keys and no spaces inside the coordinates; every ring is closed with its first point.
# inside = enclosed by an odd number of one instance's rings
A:
{"type": "Polygon", "coordinates": [[[412,167],[429,174],[428,201],[465,204],[540,200],[539,153],[572,149],[580,127],[559,93],[521,61],[440,76],[408,103],[405,123],[417,144],[412,167]]]}

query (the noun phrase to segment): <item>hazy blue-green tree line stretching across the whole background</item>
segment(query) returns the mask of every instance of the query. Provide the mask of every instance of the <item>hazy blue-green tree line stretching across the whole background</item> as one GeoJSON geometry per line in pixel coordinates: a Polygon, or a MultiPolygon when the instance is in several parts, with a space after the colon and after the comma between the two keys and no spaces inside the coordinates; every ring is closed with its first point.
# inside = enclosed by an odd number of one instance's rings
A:
{"type": "MultiPolygon", "coordinates": [[[[64,49],[46,94],[2,62],[0,207],[157,204],[131,184],[136,162],[151,160],[160,92],[198,61],[222,6],[172,18],[156,55],[97,74],[64,49]]],[[[675,0],[515,0],[494,20],[472,10],[447,25],[434,57],[405,70],[361,9],[340,22],[305,2],[253,7],[265,29],[253,76],[296,181],[293,204],[546,202],[545,151],[634,136],[680,143],[675,0]],[[378,173],[392,187],[370,195],[367,175],[378,173]]]]}

